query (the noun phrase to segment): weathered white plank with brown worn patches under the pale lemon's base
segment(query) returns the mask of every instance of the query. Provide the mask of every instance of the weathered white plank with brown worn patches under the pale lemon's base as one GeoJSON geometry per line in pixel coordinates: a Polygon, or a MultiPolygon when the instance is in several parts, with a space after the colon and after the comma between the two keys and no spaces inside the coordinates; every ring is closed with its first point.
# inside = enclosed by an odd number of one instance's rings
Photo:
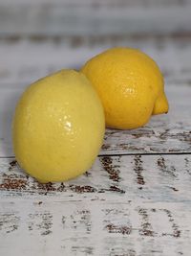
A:
{"type": "Polygon", "coordinates": [[[145,202],[190,203],[191,155],[99,156],[92,170],[65,183],[39,184],[24,174],[16,161],[0,161],[1,198],[43,198],[56,200],[124,198],[145,202]],[[92,196],[91,196],[92,195],[92,196]],[[45,197],[49,198],[49,197],[45,197]]]}

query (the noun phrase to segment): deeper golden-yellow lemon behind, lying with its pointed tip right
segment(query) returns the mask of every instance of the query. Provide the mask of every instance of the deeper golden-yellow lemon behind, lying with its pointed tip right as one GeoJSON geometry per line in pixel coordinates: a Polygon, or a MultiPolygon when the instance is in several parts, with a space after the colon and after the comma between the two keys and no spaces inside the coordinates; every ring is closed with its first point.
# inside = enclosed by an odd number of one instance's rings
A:
{"type": "Polygon", "coordinates": [[[81,72],[96,88],[107,127],[139,128],[152,114],[168,111],[158,65],[136,49],[109,49],[87,61],[81,72]]]}

